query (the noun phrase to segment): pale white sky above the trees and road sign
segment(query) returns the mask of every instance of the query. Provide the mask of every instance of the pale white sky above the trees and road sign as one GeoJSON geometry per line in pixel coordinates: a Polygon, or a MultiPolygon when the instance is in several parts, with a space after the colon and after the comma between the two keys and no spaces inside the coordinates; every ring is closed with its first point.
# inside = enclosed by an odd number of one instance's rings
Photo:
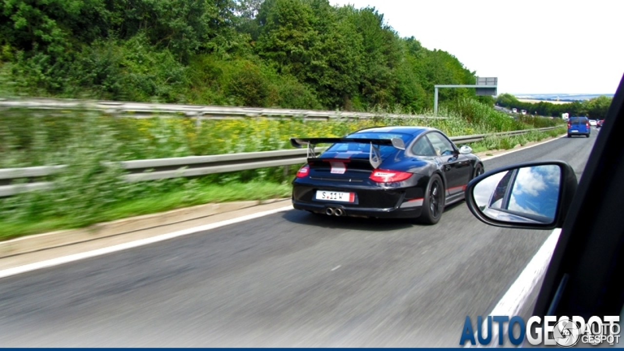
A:
{"type": "Polygon", "coordinates": [[[624,1],[330,0],[373,6],[400,36],[456,56],[499,94],[613,94],[624,1]]]}

